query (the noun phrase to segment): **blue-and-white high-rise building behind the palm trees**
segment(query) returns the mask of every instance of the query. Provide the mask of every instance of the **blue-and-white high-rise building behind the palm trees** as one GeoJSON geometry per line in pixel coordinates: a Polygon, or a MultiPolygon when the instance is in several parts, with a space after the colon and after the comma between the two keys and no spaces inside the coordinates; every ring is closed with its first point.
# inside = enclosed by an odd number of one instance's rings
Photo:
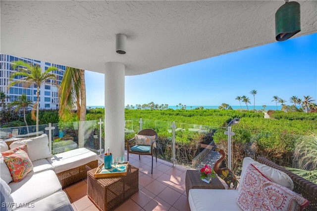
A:
{"type": "MultiPolygon", "coordinates": [[[[9,77],[10,74],[16,70],[13,70],[11,64],[13,61],[21,60],[25,63],[32,65],[38,65],[41,67],[44,72],[49,67],[56,67],[58,70],[54,70],[52,73],[56,76],[56,82],[48,81],[48,83],[42,84],[40,87],[40,109],[56,109],[58,105],[57,99],[57,87],[51,83],[60,84],[61,79],[65,72],[65,66],[51,64],[49,62],[38,61],[34,59],[28,59],[23,57],[16,57],[12,55],[0,54],[0,91],[3,92],[6,96],[4,103],[8,104],[14,100],[17,100],[19,96],[23,93],[27,96],[28,100],[31,100],[33,103],[36,102],[37,96],[36,91],[37,87],[35,84],[30,85],[29,87],[23,87],[22,84],[15,84],[14,86],[9,86],[9,77]],[[50,83],[51,82],[51,83],[50,83]]],[[[13,79],[14,80],[14,79],[13,79]]]]}

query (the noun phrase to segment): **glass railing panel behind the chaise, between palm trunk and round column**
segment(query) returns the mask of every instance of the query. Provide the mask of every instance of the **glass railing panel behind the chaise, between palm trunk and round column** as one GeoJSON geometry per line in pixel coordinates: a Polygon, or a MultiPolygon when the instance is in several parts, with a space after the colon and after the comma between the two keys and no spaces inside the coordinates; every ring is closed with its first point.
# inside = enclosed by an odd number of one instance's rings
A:
{"type": "MultiPolygon", "coordinates": [[[[53,124],[53,154],[85,147],[97,154],[100,148],[99,121],[70,122],[53,124]],[[82,129],[81,129],[82,128],[82,129]]],[[[104,148],[104,127],[102,127],[102,147],[104,148]]]]}

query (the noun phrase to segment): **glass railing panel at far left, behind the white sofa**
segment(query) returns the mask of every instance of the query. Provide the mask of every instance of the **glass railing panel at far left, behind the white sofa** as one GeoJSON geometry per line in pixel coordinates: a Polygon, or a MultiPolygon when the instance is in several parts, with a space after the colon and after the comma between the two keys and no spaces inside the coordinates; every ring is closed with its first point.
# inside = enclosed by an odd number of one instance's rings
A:
{"type": "Polygon", "coordinates": [[[21,127],[1,127],[0,128],[0,139],[12,140],[12,139],[22,139],[41,135],[47,133],[45,127],[48,125],[39,125],[39,131],[36,131],[36,126],[21,126],[21,127]]]}

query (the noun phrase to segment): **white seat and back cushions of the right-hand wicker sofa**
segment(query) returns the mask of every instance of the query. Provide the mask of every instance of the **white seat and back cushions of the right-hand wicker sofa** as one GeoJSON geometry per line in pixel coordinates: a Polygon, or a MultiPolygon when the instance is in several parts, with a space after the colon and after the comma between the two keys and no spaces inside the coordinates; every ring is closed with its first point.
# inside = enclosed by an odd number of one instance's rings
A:
{"type": "MultiPolygon", "coordinates": [[[[242,189],[241,186],[244,174],[250,164],[253,164],[254,167],[259,169],[259,171],[272,182],[293,190],[293,181],[285,172],[258,163],[252,158],[244,158],[240,184],[237,190],[191,189],[188,194],[188,202],[191,211],[242,211],[237,203],[237,198],[239,196],[239,191],[242,189]]],[[[304,206],[307,206],[307,200],[305,203],[304,206]]]]}

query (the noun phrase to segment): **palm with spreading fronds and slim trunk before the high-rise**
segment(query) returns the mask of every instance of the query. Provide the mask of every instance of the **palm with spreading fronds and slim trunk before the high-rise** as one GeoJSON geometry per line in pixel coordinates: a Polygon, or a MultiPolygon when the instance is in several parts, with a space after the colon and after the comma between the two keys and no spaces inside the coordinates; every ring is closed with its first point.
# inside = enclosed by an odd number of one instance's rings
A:
{"type": "MultiPolygon", "coordinates": [[[[36,103],[33,105],[33,109],[31,112],[32,120],[36,120],[36,131],[39,131],[39,93],[40,93],[40,86],[42,84],[54,84],[51,82],[47,82],[48,80],[56,81],[56,76],[51,72],[57,70],[56,67],[49,67],[47,70],[42,72],[41,67],[38,65],[28,64],[21,60],[13,61],[11,65],[13,69],[18,67],[19,72],[13,72],[10,75],[10,85],[9,88],[15,84],[23,84],[25,87],[30,85],[36,85],[36,103]],[[20,79],[13,81],[15,77],[21,77],[20,79]],[[36,117],[35,117],[35,109],[36,109],[36,117]]],[[[55,84],[57,86],[57,84],[55,84]]]]}

